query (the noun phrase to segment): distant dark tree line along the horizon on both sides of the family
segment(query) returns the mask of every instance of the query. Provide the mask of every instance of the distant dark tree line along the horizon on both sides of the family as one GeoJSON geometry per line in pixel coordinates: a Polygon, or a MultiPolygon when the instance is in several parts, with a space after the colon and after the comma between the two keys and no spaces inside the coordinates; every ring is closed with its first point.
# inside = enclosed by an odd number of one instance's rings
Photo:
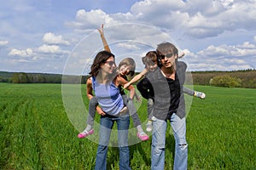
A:
{"type": "MultiPolygon", "coordinates": [[[[195,85],[227,88],[256,88],[256,70],[192,71],[195,85]]],[[[0,71],[0,82],[12,83],[85,83],[89,76],[0,71]],[[63,80],[63,78],[65,80],[63,80]]]]}

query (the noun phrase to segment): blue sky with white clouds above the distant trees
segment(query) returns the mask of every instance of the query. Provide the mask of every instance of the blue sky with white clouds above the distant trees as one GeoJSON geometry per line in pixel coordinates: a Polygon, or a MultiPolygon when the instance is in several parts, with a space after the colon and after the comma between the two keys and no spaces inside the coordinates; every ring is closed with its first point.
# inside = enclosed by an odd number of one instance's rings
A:
{"type": "Polygon", "coordinates": [[[88,74],[104,34],[116,62],[172,42],[188,71],[256,67],[256,0],[0,0],[0,71],[88,74]]]}

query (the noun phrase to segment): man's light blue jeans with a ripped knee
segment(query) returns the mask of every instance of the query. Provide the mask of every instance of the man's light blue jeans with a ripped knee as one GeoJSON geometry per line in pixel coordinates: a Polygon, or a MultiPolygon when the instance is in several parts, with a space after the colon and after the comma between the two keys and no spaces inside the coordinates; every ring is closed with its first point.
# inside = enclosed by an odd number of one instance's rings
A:
{"type": "MultiPolygon", "coordinates": [[[[173,169],[185,170],[188,166],[188,144],[186,141],[186,118],[180,119],[175,113],[171,117],[171,126],[175,139],[175,157],[173,169]]],[[[165,168],[167,122],[154,118],[151,145],[151,169],[165,168]]]]}

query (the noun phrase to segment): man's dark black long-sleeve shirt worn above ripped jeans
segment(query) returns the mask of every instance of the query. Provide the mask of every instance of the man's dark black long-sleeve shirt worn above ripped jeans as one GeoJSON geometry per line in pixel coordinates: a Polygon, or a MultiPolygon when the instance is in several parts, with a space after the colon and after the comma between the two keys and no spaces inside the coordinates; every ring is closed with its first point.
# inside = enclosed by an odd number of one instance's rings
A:
{"type": "Polygon", "coordinates": [[[183,84],[187,65],[177,61],[175,80],[166,78],[160,69],[148,72],[147,76],[137,83],[137,89],[143,98],[154,99],[154,116],[160,120],[170,119],[173,113],[183,118],[185,116],[185,103],[183,84]]]}

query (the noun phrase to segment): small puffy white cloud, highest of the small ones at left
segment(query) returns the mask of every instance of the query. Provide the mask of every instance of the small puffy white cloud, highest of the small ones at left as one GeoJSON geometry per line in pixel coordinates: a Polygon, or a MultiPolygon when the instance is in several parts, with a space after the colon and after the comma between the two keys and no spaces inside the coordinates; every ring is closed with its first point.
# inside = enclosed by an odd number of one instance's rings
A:
{"type": "Polygon", "coordinates": [[[44,34],[43,42],[48,44],[70,45],[70,42],[64,40],[62,36],[56,36],[54,33],[51,32],[44,34]]]}

